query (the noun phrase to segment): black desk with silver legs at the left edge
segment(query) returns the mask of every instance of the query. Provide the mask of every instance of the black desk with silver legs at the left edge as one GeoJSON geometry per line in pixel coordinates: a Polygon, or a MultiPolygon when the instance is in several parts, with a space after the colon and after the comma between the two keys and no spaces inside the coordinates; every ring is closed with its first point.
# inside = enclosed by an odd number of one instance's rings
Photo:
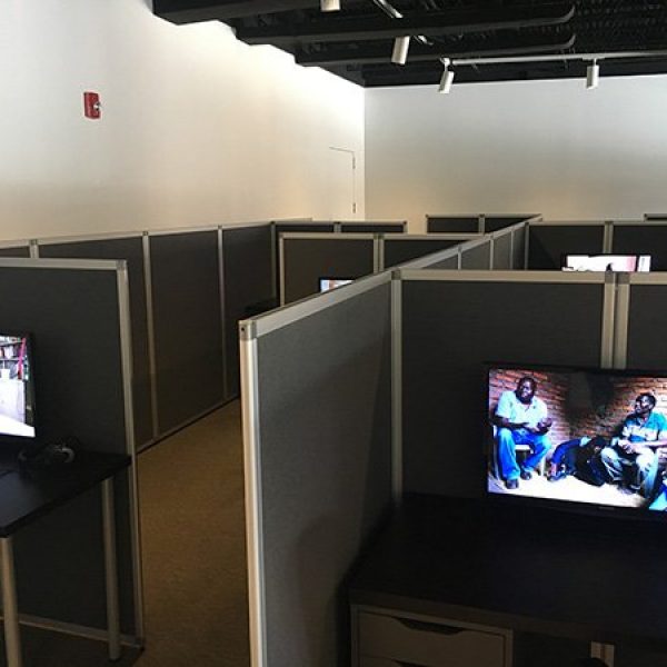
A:
{"type": "Polygon", "coordinates": [[[102,496],[109,657],[120,657],[113,476],[129,465],[129,456],[79,451],[67,466],[0,477],[0,579],[8,667],[22,665],[12,537],[23,526],[98,485],[102,496]]]}

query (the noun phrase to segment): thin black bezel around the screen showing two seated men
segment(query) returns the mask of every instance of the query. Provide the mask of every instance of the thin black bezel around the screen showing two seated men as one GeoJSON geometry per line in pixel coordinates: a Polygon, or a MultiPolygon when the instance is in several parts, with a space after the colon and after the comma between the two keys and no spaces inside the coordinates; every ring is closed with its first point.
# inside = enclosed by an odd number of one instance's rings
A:
{"type": "MultiPolygon", "coordinates": [[[[484,415],[485,417],[489,414],[489,372],[491,369],[507,369],[507,370],[526,370],[537,372],[585,372],[591,375],[607,375],[617,377],[645,377],[645,378],[667,378],[667,370],[646,370],[638,368],[599,368],[590,366],[561,366],[561,365],[547,365],[547,364],[518,364],[514,361],[485,361],[484,362],[484,415]]],[[[486,429],[485,429],[486,434],[486,429]]],[[[481,449],[482,449],[482,461],[484,470],[480,475],[481,484],[484,486],[484,501],[490,507],[506,507],[514,508],[515,510],[520,509],[535,509],[535,510],[554,510],[558,512],[575,512],[593,515],[596,517],[615,517],[620,519],[638,520],[638,521],[667,521],[667,511],[651,510],[646,507],[621,507],[616,505],[605,505],[596,502],[580,502],[577,500],[560,500],[552,498],[540,498],[537,496],[522,496],[518,494],[494,494],[488,489],[488,475],[490,465],[490,452],[482,436],[481,449]]]]}

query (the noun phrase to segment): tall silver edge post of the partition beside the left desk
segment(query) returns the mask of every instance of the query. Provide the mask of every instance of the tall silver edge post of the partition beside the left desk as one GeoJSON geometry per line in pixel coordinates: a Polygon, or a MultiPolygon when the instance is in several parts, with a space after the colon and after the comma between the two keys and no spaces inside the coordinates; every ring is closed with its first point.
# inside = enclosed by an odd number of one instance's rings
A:
{"type": "Polygon", "coordinates": [[[130,288],[127,261],[117,262],[118,307],[120,322],[120,355],[122,364],[122,391],[126,421],[126,451],[131,457],[130,465],[130,525],[133,568],[135,635],[143,644],[143,579],[141,564],[141,529],[139,520],[139,479],[137,472],[137,440],[135,437],[135,400],[132,397],[132,327],[130,319],[130,288]]]}

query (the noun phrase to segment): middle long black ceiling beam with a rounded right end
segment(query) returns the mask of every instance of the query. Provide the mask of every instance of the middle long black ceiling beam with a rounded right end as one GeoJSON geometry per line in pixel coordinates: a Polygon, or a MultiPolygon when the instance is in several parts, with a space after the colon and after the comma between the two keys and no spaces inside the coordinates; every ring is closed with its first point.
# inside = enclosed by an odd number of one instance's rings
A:
{"type": "Polygon", "coordinates": [[[328,17],[291,26],[239,27],[237,37],[249,44],[271,43],[276,46],[293,42],[394,39],[406,34],[438,37],[487,30],[557,26],[569,21],[574,13],[574,4],[559,2],[529,7],[486,7],[474,10],[438,11],[400,19],[328,17]]]}

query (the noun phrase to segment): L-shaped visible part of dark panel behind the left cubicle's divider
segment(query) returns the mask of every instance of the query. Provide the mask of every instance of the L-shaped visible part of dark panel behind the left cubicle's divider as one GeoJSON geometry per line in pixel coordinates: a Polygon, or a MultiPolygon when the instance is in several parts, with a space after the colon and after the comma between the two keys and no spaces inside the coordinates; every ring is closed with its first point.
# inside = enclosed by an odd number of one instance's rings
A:
{"type": "Polygon", "coordinates": [[[130,286],[130,319],[132,326],[132,396],[135,400],[135,438],[138,446],[157,435],[152,421],[150,350],[143,236],[123,235],[96,239],[51,239],[39,241],[37,250],[44,258],[125,259],[130,286]]]}

